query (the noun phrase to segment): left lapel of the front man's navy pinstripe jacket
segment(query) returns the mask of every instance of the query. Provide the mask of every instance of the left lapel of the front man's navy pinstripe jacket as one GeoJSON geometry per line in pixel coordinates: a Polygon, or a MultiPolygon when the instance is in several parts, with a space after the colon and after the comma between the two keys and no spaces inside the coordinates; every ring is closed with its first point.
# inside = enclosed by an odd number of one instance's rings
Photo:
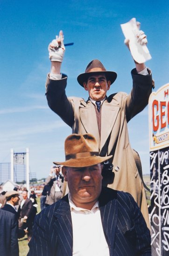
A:
{"type": "Polygon", "coordinates": [[[59,209],[54,212],[54,229],[58,234],[58,243],[62,246],[62,252],[65,256],[72,256],[73,251],[73,230],[71,222],[71,213],[68,197],[62,201],[59,209]]]}

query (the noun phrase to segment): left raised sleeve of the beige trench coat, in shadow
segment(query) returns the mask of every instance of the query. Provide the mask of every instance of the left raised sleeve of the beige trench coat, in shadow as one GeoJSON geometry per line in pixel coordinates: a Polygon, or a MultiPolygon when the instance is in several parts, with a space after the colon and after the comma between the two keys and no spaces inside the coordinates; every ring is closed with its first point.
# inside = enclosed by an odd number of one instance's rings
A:
{"type": "Polygon", "coordinates": [[[74,123],[74,110],[71,100],[65,93],[67,77],[63,75],[61,80],[51,80],[49,75],[46,81],[46,97],[48,105],[63,121],[72,127],[74,123]]]}

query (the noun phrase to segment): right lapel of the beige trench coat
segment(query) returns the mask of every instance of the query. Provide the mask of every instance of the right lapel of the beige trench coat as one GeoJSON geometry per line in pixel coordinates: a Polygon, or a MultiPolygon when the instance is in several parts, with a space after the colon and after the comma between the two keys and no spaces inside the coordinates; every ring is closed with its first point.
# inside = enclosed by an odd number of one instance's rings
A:
{"type": "Polygon", "coordinates": [[[109,103],[107,100],[105,100],[102,104],[100,151],[105,145],[110,133],[112,132],[119,110],[120,106],[118,102],[109,103]]]}

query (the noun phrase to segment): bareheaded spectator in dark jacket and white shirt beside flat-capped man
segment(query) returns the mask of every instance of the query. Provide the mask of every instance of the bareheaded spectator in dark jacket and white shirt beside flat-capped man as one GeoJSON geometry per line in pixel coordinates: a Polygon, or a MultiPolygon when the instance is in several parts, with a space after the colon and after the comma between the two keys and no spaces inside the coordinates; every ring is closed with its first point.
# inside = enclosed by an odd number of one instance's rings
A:
{"type": "Polygon", "coordinates": [[[31,239],[32,235],[32,218],[31,212],[33,211],[32,201],[28,198],[28,191],[24,190],[22,192],[23,199],[18,207],[18,217],[19,217],[19,228],[26,229],[28,227],[28,240],[31,239]]]}

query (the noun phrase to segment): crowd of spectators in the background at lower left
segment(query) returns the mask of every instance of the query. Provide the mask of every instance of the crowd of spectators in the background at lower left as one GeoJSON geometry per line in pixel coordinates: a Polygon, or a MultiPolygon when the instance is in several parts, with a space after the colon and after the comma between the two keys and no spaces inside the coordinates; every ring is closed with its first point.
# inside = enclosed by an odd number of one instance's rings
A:
{"type": "Polygon", "coordinates": [[[18,239],[27,235],[27,239],[30,241],[32,237],[32,228],[38,206],[37,197],[40,197],[41,210],[52,205],[62,197],[63,180],[62,166],[57,165],[51,167],[44,184],[31,185],[29,191],[25,186],[3,191],[1,186],[0,227],[5,235],[3,239],[0,235],[0,249],[3,256],[19,256],[18,239]],[[6,232],[6,228],[8,228],[8,232],[6,232]]]}

